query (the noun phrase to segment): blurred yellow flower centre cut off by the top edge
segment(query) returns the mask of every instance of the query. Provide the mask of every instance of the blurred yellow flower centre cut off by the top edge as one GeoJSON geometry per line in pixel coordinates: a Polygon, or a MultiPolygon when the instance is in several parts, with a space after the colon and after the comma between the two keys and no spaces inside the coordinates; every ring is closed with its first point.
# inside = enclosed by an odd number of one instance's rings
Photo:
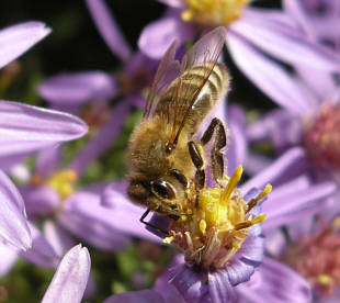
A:
{"type": "Polygon", "coordinates": [[[228,25],[241,15],[249,0],[185,0],[184,21],[204,26],[228,25]]]}

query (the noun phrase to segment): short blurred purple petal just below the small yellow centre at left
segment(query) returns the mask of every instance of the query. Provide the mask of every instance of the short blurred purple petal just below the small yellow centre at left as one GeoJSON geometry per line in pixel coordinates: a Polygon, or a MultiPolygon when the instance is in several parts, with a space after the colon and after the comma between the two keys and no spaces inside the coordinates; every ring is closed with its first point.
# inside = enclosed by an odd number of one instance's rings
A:
{"type": "Polygon", "coordinates": [[[58,206],[59,194],[47,186],[20,187],[29,216],[48,215],[58,206]]]}

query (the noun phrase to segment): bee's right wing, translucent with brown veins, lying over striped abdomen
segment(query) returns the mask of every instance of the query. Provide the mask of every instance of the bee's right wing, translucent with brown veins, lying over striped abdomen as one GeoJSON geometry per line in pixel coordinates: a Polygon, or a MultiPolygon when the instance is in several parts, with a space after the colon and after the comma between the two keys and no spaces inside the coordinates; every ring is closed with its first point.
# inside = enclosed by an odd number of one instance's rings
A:
{"type": "MultiPolygon", "coordinates": [[[[185,121],[191,112],[191,110],[193,109],[194,102],[199,96],[199,93],[201,92],[202,88],[204,87],[204,85],[206,83],[208,77],[211,76],[220,54],[222,54],[222,49],[225,43],[225,38],[226,38],[226,30],[223,26],[219,26],[215,30],[213,30],[212,32],[207,33],[206,35],[204,35],[203,37],[201,37],[186,53],[186,55],[183,57],[182,63],[181,63],[181,68],[180,68],[180,76],[179,76],[179,81],[178,81],[178,87],[177,87],[177,92],[174,93],[173,97],[173,102],[174,102],[174,120],[177,116],[177,113],[179,113],[179,111],[184,111],[184,115],[182,121],[180,123],[175,123],[175,121],[173,121],[173,126],[172,126],[172,143],[175,145],[177,141],[180,136],[181,131],[183,130],[184,125],[185,125],[185,121]],[[182,81],[183,79],[181,79],[181,76],[183,76],[183,74],[191,69],[193,66],[197,65],[197,64],[209,64],[209,68],[202,68],[203,71],[203,77],[200,80],[200,83],[197,86],[197,89],[194,93],[190,92],[189,90],[183,90],[184,87],[182,87],[182,81]],[[181,97],[188,100],[188,102],[185,103],[185,106],[183,108],[184,104],[180,104],[179,102],[179,90],[181,90],[181,97]]],[[[193,81],[194,77],[192,77],[192,79],[189,78],[189,75],[185,75],[185,81],[193,81]]],[[[189,86],[185,86],[186,88],[189,86]]]]}

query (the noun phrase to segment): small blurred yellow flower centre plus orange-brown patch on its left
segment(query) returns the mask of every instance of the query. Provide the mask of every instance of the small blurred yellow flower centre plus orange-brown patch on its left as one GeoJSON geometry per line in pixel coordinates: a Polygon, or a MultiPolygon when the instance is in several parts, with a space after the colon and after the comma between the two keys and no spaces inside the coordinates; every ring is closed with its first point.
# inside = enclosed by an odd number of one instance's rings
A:
{"type": "Polygon", "coordinates": [[[78,176],[73,170],[66,169],[57,171],[47,180],[43,180],[39,176],[34,175],[31,178],[31,183],[35,186],[46,184],[58,192],[60,200],[64,200],[73,193],[73,183],[77,178],[78,176]]]}

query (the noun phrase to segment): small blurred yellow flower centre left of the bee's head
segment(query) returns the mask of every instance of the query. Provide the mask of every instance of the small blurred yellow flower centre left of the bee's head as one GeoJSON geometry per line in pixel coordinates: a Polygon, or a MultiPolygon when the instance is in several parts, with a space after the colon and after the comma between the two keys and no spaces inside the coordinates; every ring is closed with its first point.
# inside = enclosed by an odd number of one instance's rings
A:
{"type": "Polygon", "coordinates": [[[61,170],[53,175],[45,183],[59,193],[61,200],[73,193],[73,182],[77,173],[72,170],[61,170]]]}

